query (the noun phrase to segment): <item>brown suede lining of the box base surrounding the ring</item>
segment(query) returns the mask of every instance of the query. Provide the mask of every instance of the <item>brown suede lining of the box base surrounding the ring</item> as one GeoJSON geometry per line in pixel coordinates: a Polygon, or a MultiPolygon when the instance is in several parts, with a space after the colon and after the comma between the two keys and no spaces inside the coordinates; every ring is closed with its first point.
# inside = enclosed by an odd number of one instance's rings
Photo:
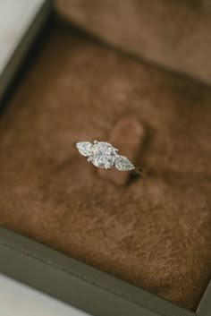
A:
{"type": "Polygon", "coordinates": [[[210,126],[206,85],[57,26],[0,119],[0,224],[195,309],[211,278],[210,126]],[[129,115],[148,175],[119,186],[72,142],[107,141],[129,115]]]}

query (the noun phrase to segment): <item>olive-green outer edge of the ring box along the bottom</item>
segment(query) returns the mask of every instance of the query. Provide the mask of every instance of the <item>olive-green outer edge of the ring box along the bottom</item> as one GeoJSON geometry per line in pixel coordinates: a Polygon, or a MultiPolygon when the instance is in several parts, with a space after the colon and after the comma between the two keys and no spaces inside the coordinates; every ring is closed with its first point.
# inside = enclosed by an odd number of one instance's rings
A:
{"type": "Polygon", "coordinates": [[[211,283],[190,312],[3,227],[0,272],[96,316],[211,315],[211,283]]]}

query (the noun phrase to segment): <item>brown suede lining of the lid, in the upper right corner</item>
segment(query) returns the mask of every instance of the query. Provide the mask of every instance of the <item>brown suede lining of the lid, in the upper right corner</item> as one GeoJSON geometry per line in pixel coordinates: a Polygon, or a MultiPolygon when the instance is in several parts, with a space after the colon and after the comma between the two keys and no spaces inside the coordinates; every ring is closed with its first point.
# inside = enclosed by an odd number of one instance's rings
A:
{"type": "Polygon", "coordinates": [[[210,0],[55,0],[69,22],[115,47],[211,83],[210,0]]]}

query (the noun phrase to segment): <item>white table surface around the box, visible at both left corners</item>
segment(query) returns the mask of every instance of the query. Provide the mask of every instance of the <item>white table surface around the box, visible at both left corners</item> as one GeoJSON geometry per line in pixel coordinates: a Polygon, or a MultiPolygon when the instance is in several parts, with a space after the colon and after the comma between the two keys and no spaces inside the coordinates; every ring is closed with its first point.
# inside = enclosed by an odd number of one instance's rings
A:
{"type": "MultiPolygon", "coordinates": [[[[44,0],[0,0],[0,75],[43,2],[44,0]]],[[[0,316],[48,315],[87,314],[0,274],[0,316]]]]}

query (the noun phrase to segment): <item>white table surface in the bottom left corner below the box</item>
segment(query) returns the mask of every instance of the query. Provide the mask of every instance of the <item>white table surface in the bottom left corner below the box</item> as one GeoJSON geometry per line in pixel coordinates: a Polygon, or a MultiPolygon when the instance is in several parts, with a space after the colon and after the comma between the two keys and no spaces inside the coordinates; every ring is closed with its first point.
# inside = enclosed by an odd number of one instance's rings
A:
{"type": "Polygon", "coordinates": [[[87,316],[72,306],[0,274],[1,316],[87,316]]]}

